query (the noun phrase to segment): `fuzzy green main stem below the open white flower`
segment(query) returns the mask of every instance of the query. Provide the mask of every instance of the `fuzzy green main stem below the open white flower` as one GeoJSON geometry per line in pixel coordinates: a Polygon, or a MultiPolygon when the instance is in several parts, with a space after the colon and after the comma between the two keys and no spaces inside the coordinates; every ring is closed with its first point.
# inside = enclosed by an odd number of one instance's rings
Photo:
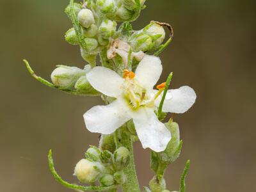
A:
{"type": "Polygon", "coordinates": [[[122,133],[120,138],[120,143],[129,149],[131,156],[128,166],[124,169],[124,173],[127,177],[127,181],[123,184],[124,192],[140,192],[140,185],[138,182],[135,164],[134,164],[134,154],[133,154],[133,143],[131,136],[126,134],[124,131],[120,130],[122,133]]]}

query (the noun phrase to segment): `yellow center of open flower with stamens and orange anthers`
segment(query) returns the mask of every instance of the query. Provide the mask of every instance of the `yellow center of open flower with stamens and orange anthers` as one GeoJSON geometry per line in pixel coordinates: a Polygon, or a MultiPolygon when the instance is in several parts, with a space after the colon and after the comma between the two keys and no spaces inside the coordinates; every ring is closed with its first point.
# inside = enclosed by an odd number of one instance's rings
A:
{"type": "Polygon", "coordinates": [[[148,92],[141,84],[134,78],[134,72],[127,69],[124,70],[124,83],[122,84],[123,94],[125,100],[129,103],[129,106],[136,110],[141,106],[147,106],[148,108],[154,108],[154,102],[161,95],[164,90],[165,84],[157,85],[159,90],[156,94],[148,92]]]}

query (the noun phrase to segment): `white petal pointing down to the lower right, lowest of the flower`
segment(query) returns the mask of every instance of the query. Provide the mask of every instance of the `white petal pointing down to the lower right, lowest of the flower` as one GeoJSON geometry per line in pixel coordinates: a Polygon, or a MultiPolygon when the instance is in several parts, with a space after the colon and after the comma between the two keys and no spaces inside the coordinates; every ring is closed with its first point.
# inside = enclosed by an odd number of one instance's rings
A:
{"type": "Polygon", "coordinates": [[[151,148],[155,152],[165,150],[172,136],[165,125],[160,122],[151,108],[141,108],[132,115],[136,132],[143,148],[151,148]]]}

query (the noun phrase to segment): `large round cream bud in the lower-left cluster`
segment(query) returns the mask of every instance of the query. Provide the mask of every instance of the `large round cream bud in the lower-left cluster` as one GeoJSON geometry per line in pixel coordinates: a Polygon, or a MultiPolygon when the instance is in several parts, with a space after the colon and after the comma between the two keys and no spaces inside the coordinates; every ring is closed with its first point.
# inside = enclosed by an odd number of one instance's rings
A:
{"type": "Polygon", "coordinates": [[[104,167],[98,162],[82,159],[76,164],[74,175],[77,179],[84,183],[95,182],[99,179],[104,167]]]}

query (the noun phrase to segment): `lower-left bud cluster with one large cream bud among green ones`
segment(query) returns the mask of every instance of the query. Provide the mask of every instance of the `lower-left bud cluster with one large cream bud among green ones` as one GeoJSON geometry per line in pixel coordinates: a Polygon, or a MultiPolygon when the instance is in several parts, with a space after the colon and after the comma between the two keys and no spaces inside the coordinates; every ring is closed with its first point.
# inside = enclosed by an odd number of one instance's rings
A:
{"type": "Polygon", "coordinates": [[[76,164],[74,175],[83,183],[99,181],[102,186],[124,184],[126,177],[122,171],[129,163],[130,152],[120,147],[114,153],[90,147],[85,153],[85,159],[76,164]]]}

